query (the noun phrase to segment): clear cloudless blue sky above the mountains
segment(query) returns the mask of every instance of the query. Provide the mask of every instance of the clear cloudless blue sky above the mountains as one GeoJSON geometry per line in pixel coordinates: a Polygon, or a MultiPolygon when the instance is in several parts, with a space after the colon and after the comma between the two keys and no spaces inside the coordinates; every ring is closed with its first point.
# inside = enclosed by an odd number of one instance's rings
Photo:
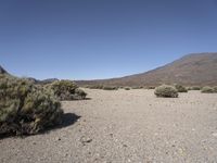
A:
{"type": "Polygon", "coordinates": [[[217,52],[217,0],[0,0],[0,65],[38,79],[143,73],[217,52]]]}

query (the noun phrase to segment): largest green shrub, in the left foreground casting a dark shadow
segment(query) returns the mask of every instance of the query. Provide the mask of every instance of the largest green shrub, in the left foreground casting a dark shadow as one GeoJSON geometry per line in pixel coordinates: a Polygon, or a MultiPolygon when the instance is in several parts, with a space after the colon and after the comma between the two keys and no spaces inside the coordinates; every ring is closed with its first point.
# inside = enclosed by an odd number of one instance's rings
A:
{"type": "Polygon", "coordinates": [[[30,135],[61,123],[61,103],[27,79],[0,75],[0,135],[30,135]]]}

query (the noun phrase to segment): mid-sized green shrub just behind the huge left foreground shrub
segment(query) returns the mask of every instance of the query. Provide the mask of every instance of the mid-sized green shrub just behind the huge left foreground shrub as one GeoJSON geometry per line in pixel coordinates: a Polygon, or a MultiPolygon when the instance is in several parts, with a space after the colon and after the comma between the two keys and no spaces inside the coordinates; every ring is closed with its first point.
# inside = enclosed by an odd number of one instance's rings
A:
{"type": "Polygon", "coordinates": [[[72,80],[54,82],[50,85],[50,89],[61,101],[85,99],[87,96],[87,93],[79,89],[78,86],[72,80]]]}

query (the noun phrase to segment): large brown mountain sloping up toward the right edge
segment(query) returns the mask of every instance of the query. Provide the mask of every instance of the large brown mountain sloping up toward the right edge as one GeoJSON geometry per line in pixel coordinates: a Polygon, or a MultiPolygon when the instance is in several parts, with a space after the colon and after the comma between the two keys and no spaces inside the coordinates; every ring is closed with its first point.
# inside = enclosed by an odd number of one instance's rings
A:
{"type": "Polygon", "coordinates": [[[78,85],[157,86],[217,86],[217,52],[192,53],[155,70],[111,79],[78,80],[78,85]]]}

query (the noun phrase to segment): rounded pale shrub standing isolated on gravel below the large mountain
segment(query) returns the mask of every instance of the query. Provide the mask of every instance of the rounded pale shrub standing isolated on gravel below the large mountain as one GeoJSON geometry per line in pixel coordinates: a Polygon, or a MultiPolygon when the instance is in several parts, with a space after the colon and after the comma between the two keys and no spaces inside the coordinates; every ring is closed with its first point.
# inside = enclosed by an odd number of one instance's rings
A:
{"type": "Polygon", "coordinates": [[[178,90],[175,87],[168,85],[156,87],[154,93],[156,97],[178,98],[178,90]]]}

